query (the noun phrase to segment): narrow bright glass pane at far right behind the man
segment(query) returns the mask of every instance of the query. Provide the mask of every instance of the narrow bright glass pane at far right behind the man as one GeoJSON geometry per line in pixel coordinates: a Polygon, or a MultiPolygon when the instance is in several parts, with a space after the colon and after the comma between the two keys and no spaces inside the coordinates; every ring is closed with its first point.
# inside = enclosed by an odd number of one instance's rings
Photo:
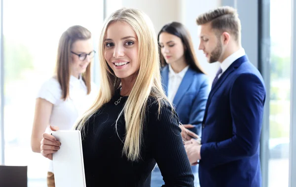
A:
{"type": "Polygon", "coordinates": [[[291,0],[270,0],[270,39],[268,186],[288,187],[291,0]]]}

